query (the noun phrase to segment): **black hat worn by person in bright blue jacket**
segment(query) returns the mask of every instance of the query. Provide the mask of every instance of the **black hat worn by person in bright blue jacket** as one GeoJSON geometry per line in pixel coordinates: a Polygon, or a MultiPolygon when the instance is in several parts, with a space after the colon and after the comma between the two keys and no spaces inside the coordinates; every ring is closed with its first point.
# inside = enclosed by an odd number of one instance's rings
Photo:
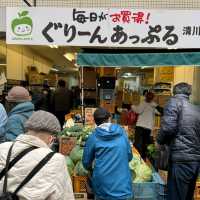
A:
{"type": "Polygon", "coordinates": [[[111,114],[105,108],[97,108],[94,112],[94,121],[96,125],[106,122],[111,117],[111,114]]]}

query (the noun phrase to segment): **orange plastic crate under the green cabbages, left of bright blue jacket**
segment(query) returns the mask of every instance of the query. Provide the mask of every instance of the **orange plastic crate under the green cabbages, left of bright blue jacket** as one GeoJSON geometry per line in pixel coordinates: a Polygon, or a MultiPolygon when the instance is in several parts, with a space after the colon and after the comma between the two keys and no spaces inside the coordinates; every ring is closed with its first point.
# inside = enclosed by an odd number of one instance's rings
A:
{"type": "Polygon", "coordinates": [[[86,176],[73,176],[73,189],[75,193],[84,193],[87,188],[86,176]]]}

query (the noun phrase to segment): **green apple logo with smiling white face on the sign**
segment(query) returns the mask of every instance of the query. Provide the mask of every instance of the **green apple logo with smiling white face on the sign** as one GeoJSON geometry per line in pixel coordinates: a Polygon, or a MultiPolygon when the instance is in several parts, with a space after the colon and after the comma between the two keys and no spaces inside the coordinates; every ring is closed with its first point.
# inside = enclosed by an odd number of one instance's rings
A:
{"type": "Polygon", "coordinates": [[[31,35],[33,29],[33,21],[27,16],[28,11],[18,13],[18,18],[12,20],[12,31],[17,36],[31,35]]]}

